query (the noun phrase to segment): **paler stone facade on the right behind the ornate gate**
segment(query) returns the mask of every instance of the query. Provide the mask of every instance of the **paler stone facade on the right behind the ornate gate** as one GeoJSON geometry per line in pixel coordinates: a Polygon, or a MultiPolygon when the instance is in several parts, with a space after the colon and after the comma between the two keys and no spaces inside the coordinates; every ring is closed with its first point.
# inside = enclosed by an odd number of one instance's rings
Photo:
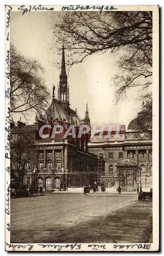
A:
{"type": "Polygon", "coordinates": [[[95,136],[88,143],[90,153],[104,158],[105,175],[100,180],[106,187],[120,184],[126,191],[152,187],[152,135],[133,130],[132,123],[128,129],[120,126],[119,138],[113,130],[109,138],[95,136]]]}

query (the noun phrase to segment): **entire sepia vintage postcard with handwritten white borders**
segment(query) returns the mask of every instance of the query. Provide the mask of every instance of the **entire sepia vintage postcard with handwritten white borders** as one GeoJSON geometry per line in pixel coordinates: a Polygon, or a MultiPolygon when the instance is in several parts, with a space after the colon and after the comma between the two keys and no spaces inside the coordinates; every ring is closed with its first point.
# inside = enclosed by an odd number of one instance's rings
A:
{"type": "Polygon", "coordinates": [[[5,11],[6,250],[159,250],[159,7],[5,11]]]}

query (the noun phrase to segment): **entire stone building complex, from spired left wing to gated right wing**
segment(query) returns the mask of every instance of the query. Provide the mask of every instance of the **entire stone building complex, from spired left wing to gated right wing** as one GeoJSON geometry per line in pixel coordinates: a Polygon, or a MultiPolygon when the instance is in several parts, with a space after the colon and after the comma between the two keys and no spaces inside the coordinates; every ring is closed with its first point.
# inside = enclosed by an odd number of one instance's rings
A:
{"type": "MultiPolygon", "coordinates": [[[[110,137],[94,136],[90,141],[90,133],[81,138],[67,136],[51,138],[52,129],[45,129],[49,138],[41,138],[39,129],[44,124],[60,124],[63,133],[69,125],[74,125],[78,134],[81,124],[90,126],[86,105],[85,118],[80,119],[77,110],[70,108],[69,88],[65,69],[64,49],[62,50],[61,73],[58,85],[58,99],[53,87],[52,102],[41,116],[36,113],[33,125],[24,125],[20,129],[11,129],[12,144],[24,134],[28,134],[35,142],[35,154],[25,164],[24,184],[30,186],[37,183],[46,191],[69,187],[82,187],[94,182],[105,184],[105,187],[118,187],[133,190],[138,186],[152,187],[152,137],[149,133],[139,133],[132,129],[136,119],[127,129],[121,126],[119,138],[115,130],[110,137]]],[[[143,111],[138,113],[143,115],[143,111]]],[[[138,118],[138,117],[137,117],[138,118]]],[[[20,165],[19,165],[20,166],[20,165]]],[[[18,164],[11,161],[11,168],[18,174],[18,164]]]]}

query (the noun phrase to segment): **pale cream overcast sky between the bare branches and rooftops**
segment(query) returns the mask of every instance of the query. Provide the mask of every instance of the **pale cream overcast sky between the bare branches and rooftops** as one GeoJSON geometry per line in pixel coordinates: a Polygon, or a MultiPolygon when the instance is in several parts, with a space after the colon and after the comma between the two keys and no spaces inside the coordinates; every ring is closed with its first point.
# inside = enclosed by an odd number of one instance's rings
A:
{"type": "MultiPolygon", "coordinates": [[[[11,12],[10,40],[21,54],[36,58],[45,69],[45,84],[52,92],[53,84],[59,82],[60,70],[55,66],[61,61],[53,44],[53,21],[57,19],[54,12],[11,12]]],[[[83,63],[72,67],[68,75],[69,102],[76,109],[80,118],[84,118],[86,102],[88,103],[91,124],[129,124],[140,111],[142,102],[136,100],[137,91],[130,90],[128,99],[114,104],[112,78],[118,74],[116,60],[118,56],[105,54],[87,57],[83,63]]],[[[34,122],[35,113],[31,113],[28,123],[34,122]]],[[[14,117],[18,119],[19,116],[14,117]]],[[[15,120],[16,121],[16,120],[15,120]]]]}

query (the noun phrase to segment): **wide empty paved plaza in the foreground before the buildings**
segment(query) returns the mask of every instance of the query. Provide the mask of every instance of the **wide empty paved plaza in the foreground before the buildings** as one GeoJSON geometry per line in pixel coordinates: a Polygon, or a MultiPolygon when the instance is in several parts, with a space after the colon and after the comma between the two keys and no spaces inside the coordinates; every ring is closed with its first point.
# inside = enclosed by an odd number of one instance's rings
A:
{"type": "Polygon", "coordinates": [[[152,202],[137,195],[11,199],[12,243],[147,243],[151,232],[152,202]]]}

